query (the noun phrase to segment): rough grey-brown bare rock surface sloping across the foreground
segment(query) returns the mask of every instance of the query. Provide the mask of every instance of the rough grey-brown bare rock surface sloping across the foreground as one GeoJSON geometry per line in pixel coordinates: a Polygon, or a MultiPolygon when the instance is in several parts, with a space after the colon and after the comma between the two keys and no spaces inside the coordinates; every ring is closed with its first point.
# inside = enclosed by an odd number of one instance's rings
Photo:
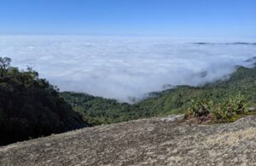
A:
{"type": "Polygon", "coordinates": [[[196,125],[148,118],[0,147],[0,165],[255,165],[256,117],[196,125]]]}

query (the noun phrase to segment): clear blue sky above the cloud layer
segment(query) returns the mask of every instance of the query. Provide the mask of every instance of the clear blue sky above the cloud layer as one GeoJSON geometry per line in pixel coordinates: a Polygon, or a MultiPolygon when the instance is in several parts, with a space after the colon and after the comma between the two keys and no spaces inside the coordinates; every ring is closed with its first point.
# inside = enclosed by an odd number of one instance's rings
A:
{"type": "Polygon", "coordinates": [[[255,37],[255,0],[1,0],[0,34],[255,37]]]}

